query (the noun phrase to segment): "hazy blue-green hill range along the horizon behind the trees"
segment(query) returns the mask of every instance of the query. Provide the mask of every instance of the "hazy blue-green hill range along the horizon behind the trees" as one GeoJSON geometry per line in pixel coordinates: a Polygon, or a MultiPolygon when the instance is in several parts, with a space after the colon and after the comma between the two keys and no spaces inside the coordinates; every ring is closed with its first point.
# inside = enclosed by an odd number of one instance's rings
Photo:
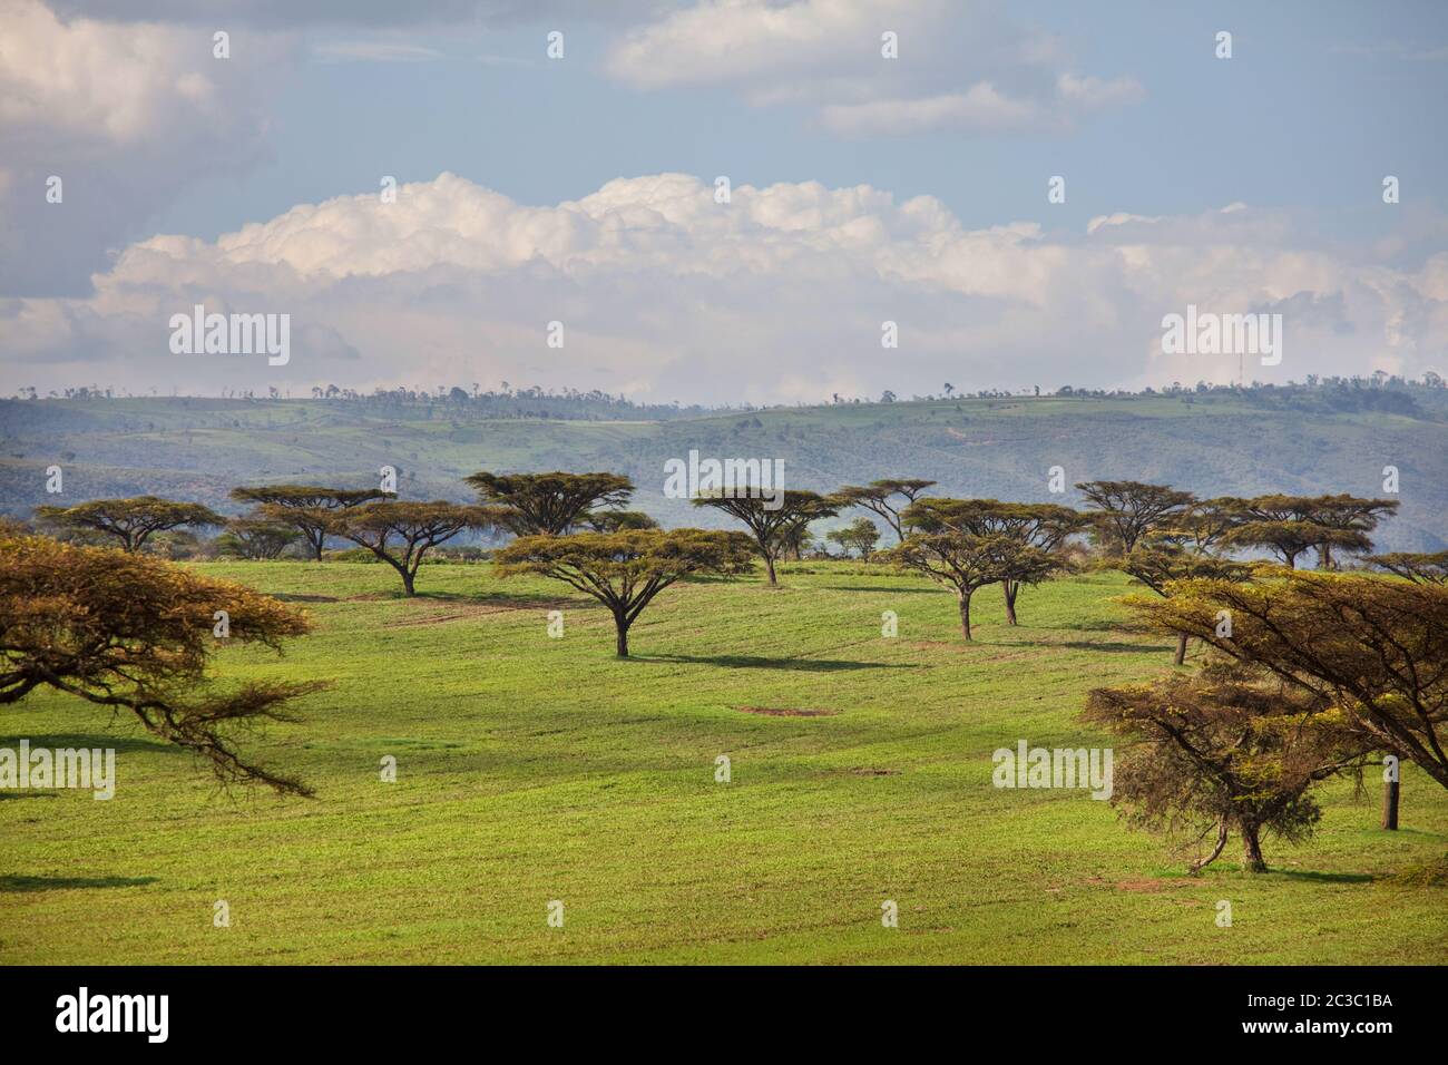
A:
{"type": "MultiPolygon", "coordinates": [[[[1377,391],[1377,390],[1371,390],[1377,391]]],[[[374,484],[400,472],[404,498],[472,498],[478,469],[611,469],[639,485],[634,507],[662,523],[718,526],[712,510],[663,496],[665,462],[782,459],[785,485],[830,491],[880,477],[925,477],[935,494],[1077,504],[1086,480],[1141,480],[1202,497],[1261,493],[1383,496],[1396,467],[1402,510],[1378,546],[1448,546],[1448,394],[1329,409],[1309,390],[1206,396],[1043,396],[841,403],[763,410],[588,409],[547,403],[385,404],[298,398],[0,401],[0,510],[28,516],[45,469],[64,498],[159,496],[237,510],[237,484],[374,484]],[[1386,407],[1386,409],[1384,409],[1386,407]],[[1048,491],[1063,467],[1064,496],[1048,491]]]]}

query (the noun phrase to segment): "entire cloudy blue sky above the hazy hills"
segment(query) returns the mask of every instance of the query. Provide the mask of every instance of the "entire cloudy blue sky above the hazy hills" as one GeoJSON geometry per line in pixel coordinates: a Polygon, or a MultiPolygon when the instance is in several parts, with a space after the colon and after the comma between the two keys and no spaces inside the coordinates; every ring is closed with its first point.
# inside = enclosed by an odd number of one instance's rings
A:
{"type": "Polygon", "coordinates": [[[1161,349],[1186,304],[1283,313],[1261,380],[1448,369],[1442,4],[3,3],[7,377],[756,403],[1232,380],[1161,349]],[[162,326],[198,301],[290,314],[298,358],[178,361],[162,326]]]}

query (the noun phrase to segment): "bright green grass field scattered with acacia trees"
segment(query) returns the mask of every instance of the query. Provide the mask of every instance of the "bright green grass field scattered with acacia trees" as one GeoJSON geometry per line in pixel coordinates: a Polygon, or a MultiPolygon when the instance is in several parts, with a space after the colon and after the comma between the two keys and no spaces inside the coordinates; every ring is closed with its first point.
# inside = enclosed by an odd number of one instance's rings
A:
{"type": "Polygon", "coordinates": [[[1448,961],[1448,890],[1390,880],[1448,851],[1448,794],[1412,767],[1400,832],[1380,784],[1335,781],[1318,836],[1268,838],[1258,877],[1235,840],[1187,878],[1085,791],[990,785],[1018,739],[1108,746],[1086,691],[1171,668],[1119,629],[1116,575],[1028,590],[1016,629],[988,588],[966,645],[917,578],[786,565],[779,590],[670,588],[618,661],[592,600],[485,565],[424,567],[416,600],[379,565],[197,568],[313,611],[284,658],[227,649],[219,672],[334,680],[246,742],[317,798],[222,793],[68,697],[6,707],[0,746],[113,746],[119,781],[109,803],[0,793],[0,962],[1448,961]]]}

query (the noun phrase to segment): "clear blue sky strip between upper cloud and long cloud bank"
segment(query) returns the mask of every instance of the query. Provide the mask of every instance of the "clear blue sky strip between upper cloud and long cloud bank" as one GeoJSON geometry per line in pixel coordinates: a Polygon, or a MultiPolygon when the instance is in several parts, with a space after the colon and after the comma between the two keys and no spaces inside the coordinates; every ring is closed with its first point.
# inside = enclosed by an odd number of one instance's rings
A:
{"type": "MultiPolygon", "coordinates": [[[[1015,4],[1022,22],[1069,38],[1082,70],[1138,78],[1142,101],[1067,135],[891,139],[834,136],[808,106],[752,107],[730,88],[618,84],[599,72],[614,30],[589,22],[447,33],[320,28],[307,33],[308,61],[278,100],[274,161],[198,185],[149,225],[214,238],[294,203],[371,191],[374,174],[424,181],[442,171],[529,204],[660,171],[869,184],[902,199],[935,196],[969,226],[1043,219],[1079,227],[1118,210],[1247,201],[1309,212],[1332,232],[1361,236],[1390,225],[1376,210],[1384,172],[1441,204],[1448,7],[1208,7],[1015,4]],[[543,58],[544,28],[565,30],[563,62],[543,58]],[[1234,33],[1231,61],[1212,54],[1219,29],[1234,33]],[[405,42],[440,58],[316,55],[343,41],[405,42]],[[1405,59],[1406,46],[1445,51],[1405,59]],[[1067,175],[1070,194],[1047,214],[1043,175],[1051,174],[1067,175]]],[[[908,41],[904,48],[908,61],[908,41]]]]}

